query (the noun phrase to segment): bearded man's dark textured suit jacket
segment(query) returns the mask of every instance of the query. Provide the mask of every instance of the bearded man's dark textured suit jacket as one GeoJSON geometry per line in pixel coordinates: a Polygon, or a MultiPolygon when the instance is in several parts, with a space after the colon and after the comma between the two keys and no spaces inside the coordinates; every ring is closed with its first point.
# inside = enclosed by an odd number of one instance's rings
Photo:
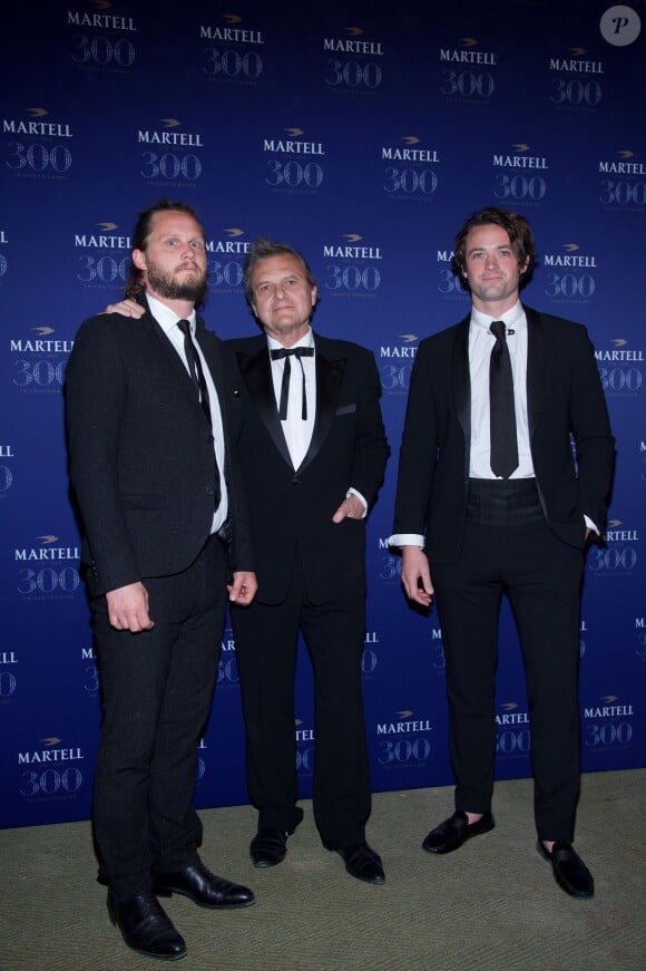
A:
{"type": "MultiPolygon", "coordinates": [[[[177,351],[148,310],[140,320],[85,321],[66,372],[70,479],[85,528],[92,593],[185,570],[209,536],[215,457],[211,428],[177,351]]],[[[253,570],[235,464],[242,397],[232,352],[197,340],[222,408],[234,570],[253,570]]]]}

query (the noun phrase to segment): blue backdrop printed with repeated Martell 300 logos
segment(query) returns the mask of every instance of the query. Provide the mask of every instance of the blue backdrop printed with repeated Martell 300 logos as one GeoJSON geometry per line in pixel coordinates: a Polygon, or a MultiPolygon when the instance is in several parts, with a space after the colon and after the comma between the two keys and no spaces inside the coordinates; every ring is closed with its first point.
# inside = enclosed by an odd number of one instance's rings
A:
{"type": "MultiPolygon", "coordinates": [[[[61,389],[80,322],[118,299],[136,214],[160,196],[205,221],[205,317],[221,336],[254,332],[242,263],[265,234],[310,259],[317,329],[374,351],[393,449],[369,524],[375,790],[452,780],[442,632],[434,610],[407,606],[386,545],[415,350],[469,307],[450,269],[462,221],[484,205],[529,219],[540,264],[523,298],[587,324],[617,437],[605,543],[585,574],[583,765],[645,764],[645,38],[643,0],[12,6],[0,41],[0,826],[89,817],[99,682],[61,389]]],[[[306,798],[304,651],[297,677],[306,798]]],[[[497,722],[498,778],[528,776],[507,608],[497,722]]],[[[227,630],[197,800],[246,799],[227,630]]]]}

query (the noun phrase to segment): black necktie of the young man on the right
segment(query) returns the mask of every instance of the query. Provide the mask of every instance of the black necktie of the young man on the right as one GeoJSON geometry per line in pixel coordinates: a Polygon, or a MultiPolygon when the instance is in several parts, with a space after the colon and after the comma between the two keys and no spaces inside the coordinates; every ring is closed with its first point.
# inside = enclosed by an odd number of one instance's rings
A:
{"type": "Polygon", "coordinates": [[[509,478],[513,469],[518,467],[511,358],[507,347],[505,321],[495,320],[490,330],[496,338],[496,347],[491,351],[489,361],[491,472],[502,476],[502,478],[509,478]]]}

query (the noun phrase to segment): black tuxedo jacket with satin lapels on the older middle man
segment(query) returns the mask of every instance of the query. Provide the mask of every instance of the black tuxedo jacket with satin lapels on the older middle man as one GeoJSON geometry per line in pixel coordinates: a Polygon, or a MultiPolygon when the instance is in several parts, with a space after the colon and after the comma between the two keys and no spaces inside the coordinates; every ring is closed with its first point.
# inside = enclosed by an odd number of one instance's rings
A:
{"type": "Polygon", "coordinates": [[[245,386],[239,462],[249,501],[257,600],[286,595],[300,553],[310,598],[317,603],[365,592],[365,520],[332,522],[352,486],[373,503],[389,447],[373,355],[349,341],[315,336],[316,417],[300,468],[281,427],[267,340],[229,341],[245,386]]]}

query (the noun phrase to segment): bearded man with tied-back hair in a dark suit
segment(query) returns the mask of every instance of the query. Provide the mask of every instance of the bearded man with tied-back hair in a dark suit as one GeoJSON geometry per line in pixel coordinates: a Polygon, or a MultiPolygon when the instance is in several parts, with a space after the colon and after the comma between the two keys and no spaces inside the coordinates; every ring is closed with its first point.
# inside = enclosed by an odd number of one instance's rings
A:
{"type": "Polygon", "coordinates": [[[126,293],[144,315],[82,324],[67,424],[102,688],[94,823],[108,911],[128,946],[173,960],[186,944],[158,894],[254,903],[199,860],[193,793],[227,590],[248,605],[256,580],[232,448],[239,379],[195,312],[206,251],[193,210],[141,213],[131,261],[126,293]]]}

